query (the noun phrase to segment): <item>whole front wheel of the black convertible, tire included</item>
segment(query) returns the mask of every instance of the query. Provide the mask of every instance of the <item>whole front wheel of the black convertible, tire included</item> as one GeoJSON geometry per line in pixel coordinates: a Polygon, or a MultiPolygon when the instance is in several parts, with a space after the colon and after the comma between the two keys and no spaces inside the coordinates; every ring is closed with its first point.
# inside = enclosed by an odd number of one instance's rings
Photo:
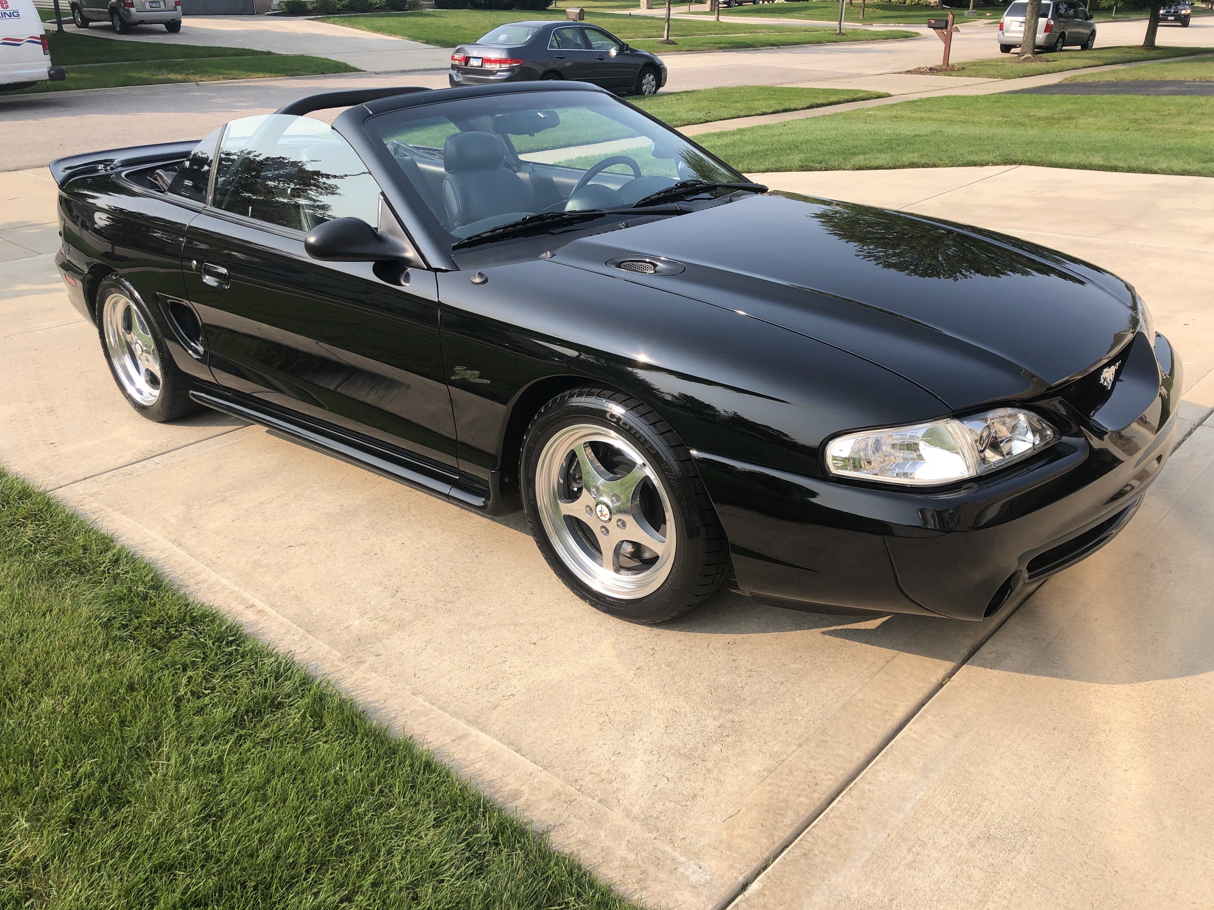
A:
{"type": "Polygon", "coordinates": [[[725,535],[691,454],[640,402],[602,389],[549,402],[521,468],[540,552],[600,610],[660,622],[724,580],[725,535]]]}

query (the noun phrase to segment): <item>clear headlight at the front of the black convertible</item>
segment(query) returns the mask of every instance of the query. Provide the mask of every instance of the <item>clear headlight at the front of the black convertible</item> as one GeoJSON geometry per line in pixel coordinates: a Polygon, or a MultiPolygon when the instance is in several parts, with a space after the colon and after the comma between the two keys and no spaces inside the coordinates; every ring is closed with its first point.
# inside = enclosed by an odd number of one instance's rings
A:
{"type": "Polygon", "coordinates": [[[1019,408],[910,427],[849,433],[827,445],[827,471],[862,480],[927,487],[964,480],[1044,449],[1057,433],[1019,408]]]}

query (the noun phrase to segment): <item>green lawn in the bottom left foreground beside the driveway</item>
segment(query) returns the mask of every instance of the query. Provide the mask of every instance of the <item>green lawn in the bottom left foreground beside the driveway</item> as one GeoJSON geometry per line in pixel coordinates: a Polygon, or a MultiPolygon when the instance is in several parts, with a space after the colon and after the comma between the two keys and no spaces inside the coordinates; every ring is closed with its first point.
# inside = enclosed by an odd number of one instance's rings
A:
{"type": "Polygon", "coordinates": [[[0,473],[0,906],[629,905],[0,473]]]}

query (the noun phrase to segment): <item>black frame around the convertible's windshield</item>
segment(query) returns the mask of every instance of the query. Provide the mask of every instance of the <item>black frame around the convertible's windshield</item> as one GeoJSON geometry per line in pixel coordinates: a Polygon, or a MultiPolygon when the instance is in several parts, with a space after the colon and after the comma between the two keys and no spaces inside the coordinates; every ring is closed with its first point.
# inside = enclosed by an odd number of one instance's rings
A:
{"type": "MultiPolygon", "coordinates": [[[[393,114],[407,108],[426,108],[433,104],[458,102],[465,98],[483,98],[486,96],[518,95],[535,91],[585,92],[609,98],[611,102],[626,107],[636,114],[640,114],[642,118],[652,121],[659,130],[671,135],[679,142],[686,143],[691,148],[696,149],[709,161],[720,166],[725,174],[734,175],[738,181],[747,182],[747,178],[732,165],[722,161],[715,154],[662,123],[656,116],[652,116],[647,112],[629,104],[626,101],[619,98],[606,89],[585,84],[562,85],[561,83],[506,83],[503,85],[486,85],[464,89],[436,89],[427,92],[392,96],[380,101],[347,108],[333,121],[333,127],[341,133],[362,157],[363,161],[370,170],[371,176],[375,177],[376,182],[382,188],[391,209],[396,212],[405,232],[409,234],[409,238],[414,241],[419,254],[429,263],[429,266],[439,271],[459,271],[460,266],[456,263],[455,256],[460,255],[460,252],[452,251],[452,244],[454,240],[449,239],[450,235],[437,223],[437,220],[430,211],[430,207],[420,198],[418,190],[405,178],[386,143],[379,137],[378,129],[373,121],[385,114],[393,114]]],[[[424,114],[420,115],[424,116],[424,114]]],[[[594,231],[595,228],[595,223],[591,222],[584,229],[594,231]]],[[[573,231],[577,229],[582,229],[582,226],[574,228],[573,231]]]]}

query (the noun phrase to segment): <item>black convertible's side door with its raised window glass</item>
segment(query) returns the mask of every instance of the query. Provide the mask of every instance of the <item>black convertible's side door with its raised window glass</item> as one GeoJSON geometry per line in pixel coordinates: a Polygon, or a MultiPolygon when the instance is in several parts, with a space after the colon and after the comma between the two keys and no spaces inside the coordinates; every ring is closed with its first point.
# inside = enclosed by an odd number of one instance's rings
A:
{"type": "Polygon", "coordinates": [[[353,216],[404,232],[330,126],[280,114],[228,124],[210,205],[191,223],[186,286],[217,382],[455,466],[437,279],[381,280],[371,263],[318,262],[304,239],[353,216]]]}

